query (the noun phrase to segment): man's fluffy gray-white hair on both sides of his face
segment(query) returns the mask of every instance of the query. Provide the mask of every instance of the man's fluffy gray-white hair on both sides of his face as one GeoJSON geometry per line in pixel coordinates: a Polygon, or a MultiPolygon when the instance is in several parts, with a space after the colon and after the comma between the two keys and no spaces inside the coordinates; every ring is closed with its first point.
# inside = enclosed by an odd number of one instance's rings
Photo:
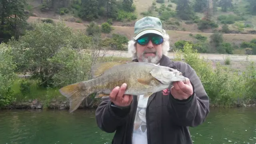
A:
{"type": "MultiPolygon", "coordinates": [[[[170,42],[169,42],[170,37],[165,30],[162,30],[162,32],[163,32],[163,38],[164,38],[164,42],[162,43],[162,54],[166,55],[170,50],[170,42]]],[[[135,44],[136,44],[136,41],[134,40],[130,40],[128,42],[128,53],[130,54],[132,59],[137,58],[135,44]]]]}

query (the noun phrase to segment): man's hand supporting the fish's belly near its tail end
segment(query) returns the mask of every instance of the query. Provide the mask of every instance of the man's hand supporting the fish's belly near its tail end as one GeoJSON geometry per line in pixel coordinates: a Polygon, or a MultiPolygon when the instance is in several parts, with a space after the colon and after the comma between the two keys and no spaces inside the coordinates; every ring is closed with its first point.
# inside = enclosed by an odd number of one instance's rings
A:
{"type": "Polygon", "coordinates": [[[116,105],[116,106],[129,106],[132,102],[132,95],[124,95],[124,92],[126,90],[127,84],[122,84],[122,86],[119,88],[117,86],[110,92],[110,100],[116,105]]]}

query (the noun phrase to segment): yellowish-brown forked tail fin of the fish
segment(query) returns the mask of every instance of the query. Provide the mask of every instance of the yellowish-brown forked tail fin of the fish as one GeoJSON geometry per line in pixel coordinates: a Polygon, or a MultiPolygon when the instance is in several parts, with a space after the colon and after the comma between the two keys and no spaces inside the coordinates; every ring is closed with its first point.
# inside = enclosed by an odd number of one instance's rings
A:
{"type": "Polygon", "coordinates": [[[82,94],[83,91],[79,88],[79,84],[80,83],[70,84],[59,90],[63,96],[69,99],[70,113],[74,112],[86,97],[84,94],[82,94]]]}

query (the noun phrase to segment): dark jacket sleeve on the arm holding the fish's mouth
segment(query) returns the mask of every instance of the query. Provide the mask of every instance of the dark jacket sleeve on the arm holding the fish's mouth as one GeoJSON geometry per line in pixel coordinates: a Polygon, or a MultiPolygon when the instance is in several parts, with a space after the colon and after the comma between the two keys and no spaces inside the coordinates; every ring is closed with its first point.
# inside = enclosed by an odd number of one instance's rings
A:
{"type": "MultiPolygon", "coordinates": [[[[178,65],[178,64],[177,64],[178,65]]],[[[168,111],[174,117],[172,120],[179,126],[195,127],[202,124],[209,113],[209,97],[195,70],[185,62],[177,66],[185,77],[189,78],[193,94],[187,100],[174,99],[170,94],[168,111]]]]}

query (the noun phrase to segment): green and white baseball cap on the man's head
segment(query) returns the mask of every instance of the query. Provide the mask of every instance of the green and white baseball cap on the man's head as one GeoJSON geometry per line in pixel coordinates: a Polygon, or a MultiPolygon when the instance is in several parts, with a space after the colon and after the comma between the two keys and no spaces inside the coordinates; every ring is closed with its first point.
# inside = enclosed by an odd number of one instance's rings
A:
{"type": "Polygon", "coordinates": [[[140,38],[144,34],[153,33],[163,36],[162,22],[159,18],[146,16],[138,20],[134,25],[134,40],[140,38]]]}

